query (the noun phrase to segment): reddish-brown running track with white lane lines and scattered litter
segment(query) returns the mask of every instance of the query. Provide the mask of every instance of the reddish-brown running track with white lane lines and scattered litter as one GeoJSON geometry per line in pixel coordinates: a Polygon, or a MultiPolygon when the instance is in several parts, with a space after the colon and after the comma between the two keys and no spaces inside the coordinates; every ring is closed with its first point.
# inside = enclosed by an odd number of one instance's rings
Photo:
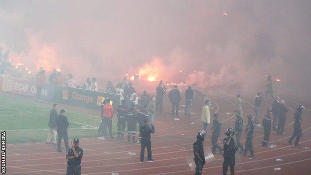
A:
{"type": "MultiPolygon", "coordinates": [[[[222,133],[228,128],[233,128],[235,123],[234,106],[232,97],[208,96],[212,99],[211,114],[217,112],[222,121],[222,133]],[[227,114],[231,113],[231,114],[227,114]]],[[[270,144],[277,148],[263,148],[260,144],[263,140],[263,129],[256,127],[254,134],[255,158],[250,160],[242,157],[240,162],[236,161],[235,172],[237,175],[311,175],[311,152],[304,147],[311,147],[311,103],[299,101],[293,97],[284,98],[290,112],[287,115],[285,135],[279,136],[273,132],[270,136],[270,144]],[[295,147],[287,144],[293,132],[293,110],[298,104],[305,105],[308,109],[303,112],[303,139],[302,146],[295,147]],[[276,158],[284,159],[276,162],[276,158]],[[281,171],[274,171],[274,168],[281,171]]],[[[253,97],[243,98],[244,120],[246,114],[253,115],[253,97]]],[[[186,157],[193,155],[192,144],[195,135],[202,129],[199,122],[202,100],[194,101],[194,114],[190,119],[180,118],[179,121],[172,120],[167,112],[164,116],[155,119],[155,134],[152,136],[152,151],[154,163],[140,163],[140,145],[129,144],[127,141],[97,140],[97,138],[80,139],[80,147],[84,150],[82,174],[84,175],[193,175],[186,163],[186,157]],[[191,124],[194,122],[194,124],[191,124]],[[128,152],[136,153],[136,156],[128,152]]],[[[261,107],[259,120],[265,115],[271,100],[266,100],[261,107]]],[[[167,106],[169,111],[170,106],[167,106]]],[[[180,109],[183,110],[184,107],[180,109]]],[[[180,116],[183,112],[180,112],[180,116]]],[[[211,115],[212,120],[212,115],[211,115]]],[[[246,121],[244,121],[246,122],[246,121]]],[[[204,147],[211,147],[210,128],[204,147]]],[[[245,125],[243,126],[245,130],[245,125]]],[[[222,142],[224,134],[219,138],[222,142]]],[[[241,137],[242,144],[245,143],[245,134],[241,137]]],[[[63,149],[64,150],[64,149],[63,149]]],[[[15,144],[7,145],[7,174],[9,175],[64,175],[66,172],[65,153],[57,153],[56,146],[45,143],[15,144]]],[[[145,160],[147,160],[147,151],[145,160]]],[[[203,175],[222,174],[222,155],[216,154],[216,160],[205,165],[203,175]]],[[[230,171],[229,171],[230,172],[230,171]]],[[[228,174],[230,174],[228,172],[228,174]]]]}

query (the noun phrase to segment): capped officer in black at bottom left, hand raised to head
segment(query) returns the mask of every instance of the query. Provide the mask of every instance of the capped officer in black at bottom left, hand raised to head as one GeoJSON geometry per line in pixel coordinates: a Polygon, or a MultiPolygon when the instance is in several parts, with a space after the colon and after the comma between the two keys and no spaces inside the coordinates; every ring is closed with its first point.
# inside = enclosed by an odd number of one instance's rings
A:
{"type": "Polygon", "coordinates": [[[74,139],[73,144],[71,142],[71,149],[66,155],[66,159],[68,160],[66,175],[81,175],[82,156],[83,150],[79,147],[79,139],[74,139]]]}

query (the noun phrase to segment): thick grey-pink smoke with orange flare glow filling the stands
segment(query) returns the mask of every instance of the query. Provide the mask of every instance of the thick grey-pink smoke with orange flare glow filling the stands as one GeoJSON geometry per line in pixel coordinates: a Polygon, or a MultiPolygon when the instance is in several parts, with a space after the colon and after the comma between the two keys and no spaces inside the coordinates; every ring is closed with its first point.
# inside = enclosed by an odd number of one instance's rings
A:
{"type": "Polygon", "coordinates": [[[0,46],[14,63],[61,68],[76,81],[139,73],[255,92],[272,74],[304,90],[310,7],[310,0],[0,1],[0,46]]]}

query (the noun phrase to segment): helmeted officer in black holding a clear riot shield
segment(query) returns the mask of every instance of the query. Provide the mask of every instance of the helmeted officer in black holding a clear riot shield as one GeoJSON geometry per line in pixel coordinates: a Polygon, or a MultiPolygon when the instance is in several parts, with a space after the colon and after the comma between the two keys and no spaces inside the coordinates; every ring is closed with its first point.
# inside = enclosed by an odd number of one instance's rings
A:
{"type": "Polygon", "coordinates": [[[204,134],[198,133],[196,135],[196,141],[193,144],[193,154],[194,154],[194,163],[195,163],[195,174],[194,175],[201,175],[203,166],[205,162],[205,155],[204,155],[204,134]]]}

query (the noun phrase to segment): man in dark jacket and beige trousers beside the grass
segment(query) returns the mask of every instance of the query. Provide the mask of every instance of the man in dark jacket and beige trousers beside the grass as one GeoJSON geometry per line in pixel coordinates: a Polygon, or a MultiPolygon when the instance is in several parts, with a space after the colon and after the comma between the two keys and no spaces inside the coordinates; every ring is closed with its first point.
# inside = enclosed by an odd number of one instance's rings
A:
{"type": "Polygon", "coordinates": [[[53,104],[53,109],[51,109],[50,111],[50,118],[49,118],[49,123],[48,126],[50,127],[50,131],[47,135],[47,139],[46,139],[46,144],[57,144],[56,142],[56,136],[57,136],[57,132],[56,132],[56,117],[58,116],[57,114],[57,104],[53,104]]]}

